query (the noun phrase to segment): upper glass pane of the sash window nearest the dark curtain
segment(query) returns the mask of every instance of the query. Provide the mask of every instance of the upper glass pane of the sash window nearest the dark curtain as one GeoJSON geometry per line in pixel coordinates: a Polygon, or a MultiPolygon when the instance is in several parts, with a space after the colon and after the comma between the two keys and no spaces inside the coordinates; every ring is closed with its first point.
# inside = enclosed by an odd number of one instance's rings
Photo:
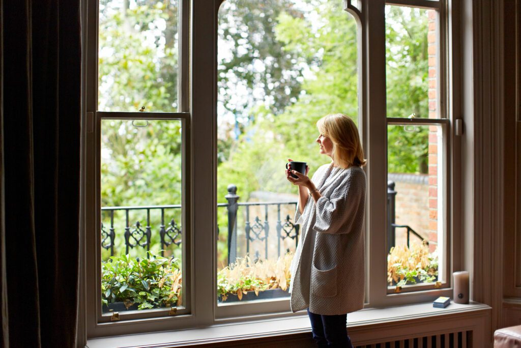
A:
{"type": "Polygon", "coordinates": [[[100,0],[98,110],[177,111],[178,0],[100,0]]]}

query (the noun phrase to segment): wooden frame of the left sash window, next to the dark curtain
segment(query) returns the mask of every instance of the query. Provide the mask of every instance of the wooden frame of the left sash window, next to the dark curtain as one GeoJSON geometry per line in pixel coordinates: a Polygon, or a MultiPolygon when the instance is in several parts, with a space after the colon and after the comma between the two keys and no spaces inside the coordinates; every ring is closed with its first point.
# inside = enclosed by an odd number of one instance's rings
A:
{"type": "MultiPolygon", "coordinates": [[[[85,206],[86,206],[86,247],[85,247],[85,312],[88,337],[102,337],[114,334],[147,332],[154,330],[147,327],[154,324],[163,329],[184,327],[186,318],[192,315],[193,282],[192,282],[192,228],[191,214],[191,114],[190,109],[190,0],[179,0],[178,8],[178,108],[171,112],[140,112],[140,111],[99,111],[98,95],[98,1],[86,2],[86,32],[96,33],[85,35],[86,64],[86,128],[85,128],[85,206]],[[177,308],[175,314],[170,314],[170,308],[156,308],[118,313],[119,316],[101,313],[101,121],[115,120],[178,120],[181,122],[181,226],[182,226],[182,275],[183,275],[183,305],[177,308]],[[92,305],[95,303],[96,305],[92,305]],[[90,305],[89,305],[90,304],[90,305]],[[129,332],[132,327],[142,325],[143,328],[129,332]],[[145,325],[143,325],[145,324],[145,325]]],[[[193,324],[191,324],[193,325],[193,324]]]]}

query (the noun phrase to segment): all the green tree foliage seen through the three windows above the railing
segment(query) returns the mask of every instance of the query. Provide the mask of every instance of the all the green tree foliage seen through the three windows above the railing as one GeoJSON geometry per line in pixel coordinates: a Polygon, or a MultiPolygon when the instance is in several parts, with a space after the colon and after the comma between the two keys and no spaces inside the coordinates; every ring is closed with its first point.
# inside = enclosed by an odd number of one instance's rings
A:
{"type": "MultiPolygon", "coordinates": [[[[100,110],[177,110],[177,4],[100,1],[100,110]]],[[[425,10],[388,6],[386,18],[387,115],[427,117],[425,10]]],[[[307,161],[310,175],[330,161],[316,121],[358,121],[358,25],[340,0],[227,0],[217,30],[218,202],[231,183],[242,202],[257,190],[294,193],[288,158],[307,161]]],[[[103,123],[103,206],[180,202],[180,124],[160,124],[103,123]]],[[[426,171],[428,129],[418,130],[389,127],[390,172],[426,171]]]]}

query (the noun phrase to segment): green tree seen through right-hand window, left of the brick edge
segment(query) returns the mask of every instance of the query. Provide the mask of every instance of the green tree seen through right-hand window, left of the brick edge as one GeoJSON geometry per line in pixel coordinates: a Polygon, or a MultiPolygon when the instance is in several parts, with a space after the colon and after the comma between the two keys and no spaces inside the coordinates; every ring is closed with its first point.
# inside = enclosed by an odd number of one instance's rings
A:
{"type": "MultiPolygon", "coordinates": [[[[387,116],[427,118],[427,10],[386,7],[387,116]]],[[[388,171],[427,173],[428,127],[388,127],[388,171]]]]}

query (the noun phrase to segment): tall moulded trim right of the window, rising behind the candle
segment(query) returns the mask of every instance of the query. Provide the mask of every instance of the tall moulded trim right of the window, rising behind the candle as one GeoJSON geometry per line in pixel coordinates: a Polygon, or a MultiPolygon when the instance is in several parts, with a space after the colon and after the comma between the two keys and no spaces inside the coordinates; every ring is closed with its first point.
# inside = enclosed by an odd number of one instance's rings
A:
{"type": "Polygon", "coordinates": [[[492,308],[490,333],[503,308],[505,183],[505,3],[463,2],[463,245],[470,299],[492,308]],[[469,30],[470,29],[470,30],[469,30]]]}

